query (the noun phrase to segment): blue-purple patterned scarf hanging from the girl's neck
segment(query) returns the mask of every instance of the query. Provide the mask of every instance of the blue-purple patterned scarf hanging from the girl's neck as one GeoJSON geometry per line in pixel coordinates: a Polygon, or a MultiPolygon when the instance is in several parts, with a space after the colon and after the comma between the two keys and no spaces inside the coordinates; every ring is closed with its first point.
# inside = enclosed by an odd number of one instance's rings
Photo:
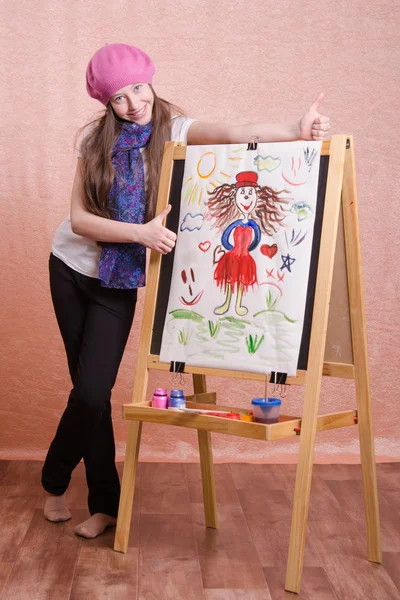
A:
{"type": "MultiPolygon", "coordinates": [[[[145,222],[146,192],[140,148],[148,143],[152,123],[124,123],[114,144],[111,160],[115,170],[109,201],[111,216],[125,223],[145,222]]],[[[146,283],[146,248],[136,243],[104,243],[99,264],[103,287],[133,289],[146,283]]]]}

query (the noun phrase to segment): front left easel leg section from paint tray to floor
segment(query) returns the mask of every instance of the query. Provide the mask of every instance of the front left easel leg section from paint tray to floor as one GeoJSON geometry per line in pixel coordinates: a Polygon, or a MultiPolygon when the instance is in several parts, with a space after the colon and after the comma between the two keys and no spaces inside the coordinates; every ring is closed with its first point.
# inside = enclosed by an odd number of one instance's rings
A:
{"type": "Polygon", "coordinates": [[[119,502],[117,530],[114,541],[114,550],[117,552],[128,551],[141,433],[141,421],[134,421],[129,424],[124,474],[122,477],[121,499],[119,502]]]}

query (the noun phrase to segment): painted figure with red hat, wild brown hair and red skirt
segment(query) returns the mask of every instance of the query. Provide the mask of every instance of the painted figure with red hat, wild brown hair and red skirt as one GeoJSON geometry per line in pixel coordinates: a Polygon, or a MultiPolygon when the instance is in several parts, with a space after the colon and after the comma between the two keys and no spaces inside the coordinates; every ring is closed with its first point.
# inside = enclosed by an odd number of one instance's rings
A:
{"type": "Polygon", "coordinates": [[[224,303],[214,309],[216,315],[229,310],[233,293],[236,314],[247,314],[243,294],[257,285],[256,263],[250,252],[259,245],[261,233],[276,233],[286,216],[284,209],[289,201],[279,198],[286,190],[277,192],[257,181],[257,173],[242,171],[236,175],[236,183],[215,188],[207,203],[207,218],[214,221],[213,227],[224,230],[221,243],[227,250],[214,272],[217,285],[226,293],[224,303]]]}

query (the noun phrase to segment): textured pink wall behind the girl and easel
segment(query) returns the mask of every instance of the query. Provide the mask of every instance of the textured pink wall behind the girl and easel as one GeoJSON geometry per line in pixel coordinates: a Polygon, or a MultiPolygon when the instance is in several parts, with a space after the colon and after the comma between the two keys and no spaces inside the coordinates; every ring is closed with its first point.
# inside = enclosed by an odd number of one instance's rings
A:
{"type": "MultiPolygon", "coordinates": [[[[70,382],[47,260],[69,209],[75,132],[99,108],[86,95],[86,64],[98,47],[120,41],[147,50],[158,92],[198,119],[292,121],[325,91],[332,133],[355,136],[377,455],[400,459],[399,217],[391,210],[399,180],[399,3],[21,0],[2,3],[0,11],[0,458],[42,458],[66,402],[70,382]]],[[[131,398],[143,293],[140,298],[114,391],[119,457],[126,439],[120,407],[131,398]]],[[[169,376],[152,374],[155,384],[169,387],[169,376]]],[[[215,379],[209,389],[241,406],[262,391],[215,379]]],[[[285,412],[299,413],[301,401],[302,391],[290,390],[285,412]]],[[[324,382],[320,412],[354,405],[352,383],[324,382]]],[[[194,431],[145,425],[141,458],[195,460],[196,439],[194,431]]],[[[214,436],[215,458],[295,461],[297,441],[214,436]]],[[[358,453],[356,428],[317,436],[318,461],[357,461],[358,453]]]]}

